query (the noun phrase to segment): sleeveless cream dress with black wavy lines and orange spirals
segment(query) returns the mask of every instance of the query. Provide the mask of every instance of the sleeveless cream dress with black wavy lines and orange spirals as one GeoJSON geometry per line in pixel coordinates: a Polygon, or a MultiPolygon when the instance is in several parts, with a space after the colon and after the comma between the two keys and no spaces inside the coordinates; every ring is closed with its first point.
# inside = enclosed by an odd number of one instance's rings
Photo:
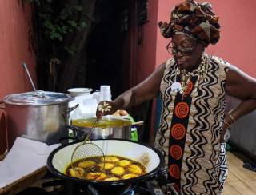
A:
{"type": "MultiPolygon", "coordinates": [[[[187,97],[170,93],[177,65],[166,62],[161,82],[162,116],[155,140],[165,154],[168,179],[181,194],[220,194],[226,180],[226,148],[220,139],[226,106],[226,74],[229,64],[209,59],[208,72],[193,83],[187,97]]],[[[194,82],[197,77],[194,78],[194,82]]]]}

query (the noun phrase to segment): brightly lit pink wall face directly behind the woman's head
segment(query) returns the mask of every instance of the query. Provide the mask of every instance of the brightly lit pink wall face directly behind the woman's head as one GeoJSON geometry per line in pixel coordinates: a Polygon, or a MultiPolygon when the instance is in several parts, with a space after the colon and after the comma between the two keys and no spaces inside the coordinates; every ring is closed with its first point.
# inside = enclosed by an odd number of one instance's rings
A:
{"type": "MultiPolygon", "coordinates": [[[[178,0],[158,1],[158,21],[168,21],[170,10],[178,0]]],[[[198,1],[206,2],[206,1],[198,1]]],[[[209,54],[218,55],[226,61],[238,66],[240,69],[256,77],[256,1],[219,1],[209,0],[215,12],[220,16],[222,26],[221,39],[215,46],[209,46],[209,54]]],[[[166,52],[168,40],[163,38],[159,30],[157,32],[156,66],[165,62],[170,55],[166,52]]]]}

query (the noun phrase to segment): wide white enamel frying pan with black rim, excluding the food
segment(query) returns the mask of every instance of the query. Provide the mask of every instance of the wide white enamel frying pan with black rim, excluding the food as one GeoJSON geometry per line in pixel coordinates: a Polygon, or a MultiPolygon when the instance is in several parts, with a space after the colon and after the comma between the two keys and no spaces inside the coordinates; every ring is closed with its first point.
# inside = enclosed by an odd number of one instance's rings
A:
{"type": "Polygon", "coordinates": [[[141,181],[147,181],[158,177],[165,173],[164,159],[162,153],[149,145],[142,145],[135,141],[126,141],[120,139],[94,140],[94,144],[98,145],[104,155],[115,155],[126,157],[134,161],[139,161],[146,167],[146,174],[140,177],[134,177],[127,180],[119,181],[93,181],[83,180],[66,175],[66,168],[70,165],[70,159],[74,149],[80,143],[71,143],[62,145],[55,149],[48,157],[47,167],[51,173],[82,185],[91,185],[98,190],[99,193],[94,194],[123,194],[122,191],[132,189],[134,185],[138,185],[141,181]]]}

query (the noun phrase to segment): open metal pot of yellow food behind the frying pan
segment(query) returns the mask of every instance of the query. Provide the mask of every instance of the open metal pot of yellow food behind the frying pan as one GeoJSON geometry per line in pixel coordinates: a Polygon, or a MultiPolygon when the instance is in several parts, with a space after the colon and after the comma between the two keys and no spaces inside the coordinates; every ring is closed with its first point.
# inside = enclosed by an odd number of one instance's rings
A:
{"type": "MultiPolygon", "coordinates": [[[[90,129],[94,125],[96,118],[86,118],[71,121],[72,125],[69,126],[70,129],[78,132],[89,133],[90,129]]],[[[143,125],[143,121],[132,123],[126,119],[121,119],[117,117],[106,117],[103,121],[98,121],[95,124],[95,128],[90,135],[91,139],[126,139],[130,140],[132,127],[143,125]]]]}

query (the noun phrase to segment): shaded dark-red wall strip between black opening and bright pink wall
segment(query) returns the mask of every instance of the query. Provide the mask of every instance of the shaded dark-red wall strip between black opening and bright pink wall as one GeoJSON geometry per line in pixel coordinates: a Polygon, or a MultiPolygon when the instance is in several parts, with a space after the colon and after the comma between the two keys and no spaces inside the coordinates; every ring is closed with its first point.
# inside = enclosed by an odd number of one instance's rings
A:
{"type": "MultiPolygon", "coordinates": [[[[162,0],[161,0],[162,1],[162,0]]],[[[135,2],[135,1],[134,1],[135,2]]],[[[136,17],[135,17],[136,18],[136,17]]],[[[131,86],[142,82],[146,77],[148,77],[155,69],[156,65],[156,54],[157,54],[157,36],[158,36],[158,0],[149,0],[148,6],[148,21],[146,24],[142,25],[142,29],[138,26],[133,30],[133,39],[131,42],[132,50],[131,52],[131,86]],[[142,44],[138,45],[139,34],[142,35],[142,44]]],[[[152,118],[151,124],[155,121],[155,104],[152,108],[152,118]]],[[[151,125],[150,132],[154,130],[154,125],[151,125]]]]}

